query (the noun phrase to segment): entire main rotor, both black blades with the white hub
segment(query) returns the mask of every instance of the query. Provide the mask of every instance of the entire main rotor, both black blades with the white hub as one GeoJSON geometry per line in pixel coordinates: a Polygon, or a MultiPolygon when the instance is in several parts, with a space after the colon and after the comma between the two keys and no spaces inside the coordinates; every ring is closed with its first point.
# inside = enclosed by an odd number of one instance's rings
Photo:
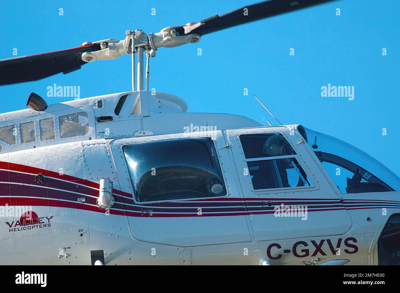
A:
{"type": "MultiPolygon", "coordinates": [[[[196,43],[205,34],[330,1],[333,0],[267,0],[226,14],[217,14],[200,22],[168,26],[155,34],[146,34],[139,29],[127,30],[124,40],[84,42],[80,47],[67,50],[3,59],[0,60],[0,85],[39,80],[60,72],[66,74],[80,69],[84,64],[96,60],[114,60],[121,55],[142,55],[148,52],[154,57],[161,47],[173,48],[196,43]]],[[[141,56],[138,57],[138,70],[143,69],[140,61],[141,56]]],[[[138,78],[142,78],[139,71],[138,78]]]]}

